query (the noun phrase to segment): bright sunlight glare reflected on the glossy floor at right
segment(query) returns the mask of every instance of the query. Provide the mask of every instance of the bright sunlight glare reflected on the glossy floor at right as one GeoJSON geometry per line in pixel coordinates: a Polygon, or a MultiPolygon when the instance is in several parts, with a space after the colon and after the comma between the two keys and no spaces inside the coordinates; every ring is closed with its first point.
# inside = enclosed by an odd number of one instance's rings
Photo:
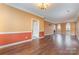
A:
{"type": "Polygon", "coordinates": [[[66,32],[66,34],[57,33],[54,36],[55,40],[53,41],[60,53],[74,53],[76,51],[78,42],[71,37],[70,32],[66,32]]]}

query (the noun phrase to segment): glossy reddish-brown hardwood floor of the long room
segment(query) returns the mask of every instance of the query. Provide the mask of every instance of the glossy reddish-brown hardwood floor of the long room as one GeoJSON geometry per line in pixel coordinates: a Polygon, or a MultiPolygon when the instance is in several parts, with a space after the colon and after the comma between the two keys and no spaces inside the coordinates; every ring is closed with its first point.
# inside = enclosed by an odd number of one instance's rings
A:
{"type": "MultiPolygon", "coordinates": [[[[58,36],[57,36],[58,37],[58,36]]],[[[62,36],[64,37],[64,36],[62,36]]],[[[79,46],[76,38],[72,38],[74,42],[71,46],[66,46],[65,39],[57,40],[62,37],[49,39],[35,39],[20,45],[0,49],[0,55],[77,55],[79,54],[79,46]],[[60,44],[62,43],[62,44],[60,44]]]]}

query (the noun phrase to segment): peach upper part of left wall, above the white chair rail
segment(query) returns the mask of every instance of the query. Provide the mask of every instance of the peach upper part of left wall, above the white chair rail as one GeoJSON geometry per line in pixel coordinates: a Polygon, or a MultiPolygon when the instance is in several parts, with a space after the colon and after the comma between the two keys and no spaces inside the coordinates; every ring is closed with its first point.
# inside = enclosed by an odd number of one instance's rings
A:
{"type": "Polygon", "coordinates": [[[43,18],[0,4],[0,32],[32,31],[32,20],[38,20],[44,31],[43,18]]]}

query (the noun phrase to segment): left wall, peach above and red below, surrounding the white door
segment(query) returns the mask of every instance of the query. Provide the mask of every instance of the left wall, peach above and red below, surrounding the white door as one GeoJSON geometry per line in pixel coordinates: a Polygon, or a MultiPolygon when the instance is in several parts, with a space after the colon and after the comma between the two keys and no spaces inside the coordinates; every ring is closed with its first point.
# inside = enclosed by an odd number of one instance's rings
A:
{"type": "Polygon", "coordinates": [[[31,39],[33,20],[39,21],[40,36],[44,36],[43,18],[0,4],[0,45],[31,39]]]}

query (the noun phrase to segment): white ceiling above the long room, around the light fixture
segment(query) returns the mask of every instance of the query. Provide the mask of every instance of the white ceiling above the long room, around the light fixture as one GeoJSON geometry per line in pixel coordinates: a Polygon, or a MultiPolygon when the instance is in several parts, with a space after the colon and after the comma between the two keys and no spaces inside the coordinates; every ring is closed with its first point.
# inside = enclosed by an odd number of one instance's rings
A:
{"type": "Polygon", "coordinates": [[[7,5],[39,15],[52,23],[68,22],[71,21],[70,17],[74,18],[72,21],[76,21],[79,14],[78,3],[51,3],[46,10],[40,10],[34,3],[8,3],[7,5]]]}

